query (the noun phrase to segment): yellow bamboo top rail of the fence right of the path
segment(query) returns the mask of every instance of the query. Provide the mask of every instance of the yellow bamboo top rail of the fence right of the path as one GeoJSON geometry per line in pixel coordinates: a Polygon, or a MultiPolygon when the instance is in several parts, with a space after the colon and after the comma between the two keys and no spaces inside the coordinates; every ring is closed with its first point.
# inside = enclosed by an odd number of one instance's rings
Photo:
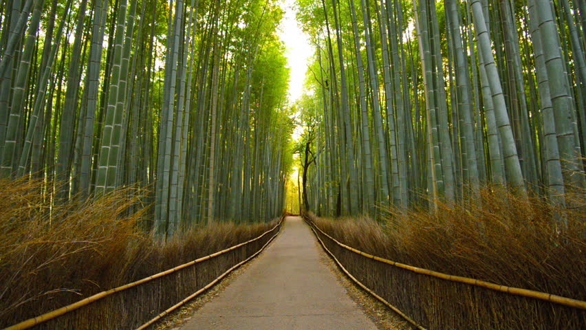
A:
{"type": "Polygon", "coordinates": [[[328,239],[331,239],[336,244],[340,245],[342,248],[345,248],[346,250],[349,250],[349,251],[354,252],[356,254],[360,254],[361,256],[365,256],[366,258],[379,261],[380,263],[386,263],[387,265],[399,267],[404,270],[409,270],[411,272],[415,272],[417,274],[423,274],[423,275],[427,275],[427,276],[433,276],[435,278],[441,278],[442,280],[446,280],[446,281],[465,283],[468,285],[475,285],[477,287],[486,287],[486,289],[491,289],[491,290],[498,291],[498,292],[504,292],[506,294],[514,294],[517,296],[523,296],[523,297],[527,297],[527,298],[544,300],[544,301],[547,301],[550,303],[555,303],[558,305],[563,305],[563,306],[567,306],[567,307],[573,307],[576,309],[585,309],[586,310],[586,301],[572,299],[572,298],[566,298],[563,296],[556,296],[555,294],[546,294],[545,292],[537,292],[537,291],[533,291],[533,290],[529,290],[529,289],[521,289],[519,287],[507,287],[505,285],[498,285],[495,283],[477,280],[475,278],[468,278],[468,277],[463,277],[463,276],[455,276],[455,275],[444,274],[444,273],[440,273],[440,272],[434,272],[433,270],[426,270],[424,268],[414,267],[411,265],[405,265],[404,263],[397,263],[395,261],[380,258],[380,256],[373,256],[372,254],[368,254],[366,252],[356,250],[355,248],[351,248],[348,245],[345,245],[343,243],[336,241],[336,239],[334,239],[332,236],[329,236],[328,234],[323,232],[323,230],[321,230],[313,221],[311,221],[310,219],[307,219],[307,221],[310,221],[310,225],[315,227],[322,234],[327,236],[328,239]]]}

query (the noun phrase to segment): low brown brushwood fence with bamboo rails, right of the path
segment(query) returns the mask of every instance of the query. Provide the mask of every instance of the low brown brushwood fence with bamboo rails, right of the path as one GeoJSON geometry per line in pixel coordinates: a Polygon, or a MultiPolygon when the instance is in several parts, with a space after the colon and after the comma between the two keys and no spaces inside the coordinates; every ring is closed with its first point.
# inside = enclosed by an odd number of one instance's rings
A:
{"type": "Polygon", "coordinates": [[[586,302],[372,256],[312,227],[347,275],[418,329],[586,329],[586,302]]]}

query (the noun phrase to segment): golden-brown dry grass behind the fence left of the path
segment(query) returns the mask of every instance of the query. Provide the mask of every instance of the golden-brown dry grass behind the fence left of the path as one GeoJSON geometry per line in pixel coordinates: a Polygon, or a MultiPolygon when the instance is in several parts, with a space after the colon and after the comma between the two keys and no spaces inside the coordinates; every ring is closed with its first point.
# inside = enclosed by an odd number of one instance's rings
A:
{"type": "MultiPolygon", "coordinates": [[[[41,180],[0,181],[0,328],[248,241],[274,225],[218,223],[162,243],[140,229],[146,208],[129,212],[140,206],[131,189],[49,207],[52,195],[41,193],[46,187],[41,180]]],[[[197,286],[245,254],[220,258],[221,265],[206,262],[197,286]]]]}

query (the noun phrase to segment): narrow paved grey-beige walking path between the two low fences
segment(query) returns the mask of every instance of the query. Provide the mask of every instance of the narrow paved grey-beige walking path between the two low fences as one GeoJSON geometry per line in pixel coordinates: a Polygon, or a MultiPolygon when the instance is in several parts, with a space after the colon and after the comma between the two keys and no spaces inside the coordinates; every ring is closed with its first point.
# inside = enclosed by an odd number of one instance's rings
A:
{"type": "Polygon", "coordinates": [[[321,263],[315,238],[303,220],[287,217],[283,232],[263,256],[181,329],[369,330],[376,326],[321,263]]]}

